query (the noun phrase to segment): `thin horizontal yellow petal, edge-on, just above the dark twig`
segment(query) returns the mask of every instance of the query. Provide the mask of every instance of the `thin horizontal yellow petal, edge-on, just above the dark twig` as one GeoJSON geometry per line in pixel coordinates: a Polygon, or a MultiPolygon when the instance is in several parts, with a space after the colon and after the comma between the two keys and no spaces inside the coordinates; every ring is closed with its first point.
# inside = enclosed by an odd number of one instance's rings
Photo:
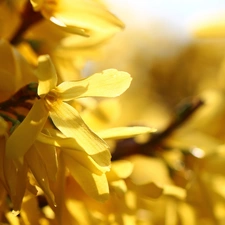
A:
{"type": "Polygon", "coordinates": [[[107,130],[97,131],[96,134],[103,139],[123,139],[134,137],[139,134],[153,133],[155,128],[150,127],[115,127],[107,130]]]}

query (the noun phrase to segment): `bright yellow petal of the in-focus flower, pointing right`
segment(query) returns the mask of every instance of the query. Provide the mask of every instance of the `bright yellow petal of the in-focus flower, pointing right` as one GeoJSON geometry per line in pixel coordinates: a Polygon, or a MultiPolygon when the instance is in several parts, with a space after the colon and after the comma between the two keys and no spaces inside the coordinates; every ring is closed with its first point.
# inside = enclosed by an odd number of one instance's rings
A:
{"type": "Polygon", "coordinates": [[[57,90],[65,101],[82,97],[117,97],[127,90],[131,80],[129,73],[108,69],[83,80],[63,82],[57,90]]]}

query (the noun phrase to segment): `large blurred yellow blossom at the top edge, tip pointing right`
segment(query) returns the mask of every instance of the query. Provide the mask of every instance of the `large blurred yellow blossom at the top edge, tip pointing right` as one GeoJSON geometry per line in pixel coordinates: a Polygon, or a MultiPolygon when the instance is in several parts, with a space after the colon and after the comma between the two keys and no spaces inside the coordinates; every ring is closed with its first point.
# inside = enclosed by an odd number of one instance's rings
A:
{"type": "Polygon", "coordinates": [[[110,38],[124,26],[95,0],[31,0],[31,4],[35,11],[41,11],[45,18],[61,29],[91,37],[96,43],[110,38]]]}

